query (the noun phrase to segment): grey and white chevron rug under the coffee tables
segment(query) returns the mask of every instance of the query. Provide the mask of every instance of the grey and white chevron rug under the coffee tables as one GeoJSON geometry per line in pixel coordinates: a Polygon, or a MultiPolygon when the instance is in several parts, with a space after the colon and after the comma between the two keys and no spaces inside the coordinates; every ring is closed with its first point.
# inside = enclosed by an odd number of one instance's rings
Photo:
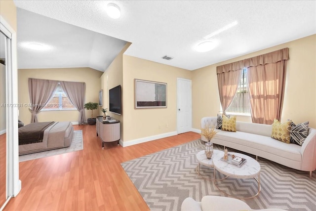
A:
{"type": "MultiPolygon", "coordinates": [[[[121,164],[151,211],[180,211],[183,200],[196,201],[206,195],[226,196],[213,184],[213,169],[200,167],[197,175],[197,152],[204,149],[201,140],[194,140],[121,164]]],[[[214,149],[223,150],[214,145],[214,149]]],[[[229,152],[238,152],[229,149],[229,152]]],[[[246,154],[246,153],[244,153],[246,154]]],[[[253,155],[248,156],[255,158],[253,155]]],[[[290,169],[258,158],[261,165],[261,192],[243,200],[252,209],[279,208],[288,211],[316,211],[316,173],[290,169]]],[[[218,173],[216,178],[224,175],[218,173]]],[[[218,182],[227,193],[249,197],[258,190],[254,179],[228,177],[218,182]]]]}

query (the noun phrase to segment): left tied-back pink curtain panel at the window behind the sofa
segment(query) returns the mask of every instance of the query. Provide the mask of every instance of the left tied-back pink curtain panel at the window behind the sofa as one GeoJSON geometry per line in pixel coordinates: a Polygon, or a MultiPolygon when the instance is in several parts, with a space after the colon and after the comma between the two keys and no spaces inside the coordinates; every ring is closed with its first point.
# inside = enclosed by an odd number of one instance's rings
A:
{"type": "Polygon", "coordinates": [[[226,114],[225,111],[235,97],[242,69],[242,62],[234,62],[217,67],[218,91],[223,114],[226,114]]]}

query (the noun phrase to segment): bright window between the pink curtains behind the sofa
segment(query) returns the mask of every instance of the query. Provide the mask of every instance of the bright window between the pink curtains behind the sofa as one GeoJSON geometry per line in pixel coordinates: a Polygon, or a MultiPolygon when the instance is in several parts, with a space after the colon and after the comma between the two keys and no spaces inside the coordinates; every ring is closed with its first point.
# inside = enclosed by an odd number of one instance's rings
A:
{"type": "Polygon", "coordinates": [[[247,83],[247,68],[244,68],[241,74],[240,82],[236,95],[230,107],[226,110],[228,113],[250,115],[250,101],[247,83]]]}

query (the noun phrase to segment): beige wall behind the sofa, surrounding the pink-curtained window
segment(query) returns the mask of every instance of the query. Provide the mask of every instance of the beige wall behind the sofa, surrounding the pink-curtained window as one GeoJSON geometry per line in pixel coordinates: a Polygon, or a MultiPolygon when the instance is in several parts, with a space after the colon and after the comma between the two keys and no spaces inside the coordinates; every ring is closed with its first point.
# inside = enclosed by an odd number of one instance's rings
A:
{"type": "MultiPolygon", "coordinates": [[[[310,122],[316,127],[316,35],[283,43],[254,53],[193,71],[193,127],[200,129],[200,120],[216,116],[220,110],[216,67],[245,58],[289,48],[285,95],[281,122],[291,119],[299,124],[310,122]]],[[[238,116],[237,121],[251,122],[250,117],[238,116]]]]}

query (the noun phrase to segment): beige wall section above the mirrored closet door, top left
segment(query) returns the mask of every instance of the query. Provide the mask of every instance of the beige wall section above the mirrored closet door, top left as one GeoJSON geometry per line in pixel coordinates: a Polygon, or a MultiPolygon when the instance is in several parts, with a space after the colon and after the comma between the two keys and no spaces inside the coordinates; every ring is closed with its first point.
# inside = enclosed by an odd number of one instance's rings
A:
{"type": "Polygon", "coordinates": [[[13,0],[0,0],[0,14],[16,32],[16,6],[13,0]]]}

